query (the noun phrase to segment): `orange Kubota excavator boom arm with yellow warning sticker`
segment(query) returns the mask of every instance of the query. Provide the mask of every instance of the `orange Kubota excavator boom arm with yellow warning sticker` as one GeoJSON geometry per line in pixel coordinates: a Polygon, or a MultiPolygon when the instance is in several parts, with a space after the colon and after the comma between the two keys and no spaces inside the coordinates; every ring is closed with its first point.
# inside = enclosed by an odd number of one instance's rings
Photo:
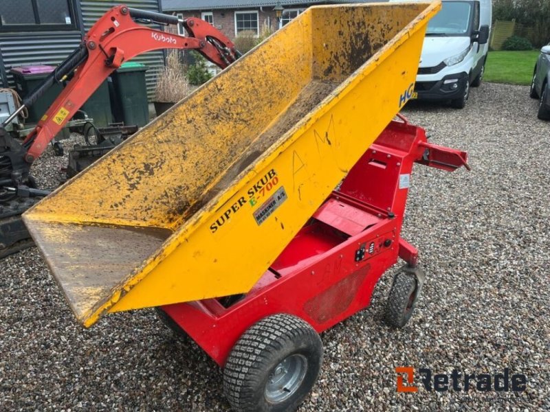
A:
{"type": "MultiPolygon", "coordinates": [[[[42,154],[65,123],[122,62],[158,49],[196,50],[222,69],[240,56],[228,38],[201,19],[180,21],[176,16],[136,10],[126,5],[111,8],[91,27],[80,49],[69,56],[78,64],[74,77],[23,142],[28,148],[25,161],[32,163],[42,154]],[[182,23],[189,36],[155,30],[136,23],[134,19],[182,23]]],[[[65,73],[59,76],[64,77],[65,73]]],[[[50,82],[63,80],[63,77],[52,76],[50,82]]]]}

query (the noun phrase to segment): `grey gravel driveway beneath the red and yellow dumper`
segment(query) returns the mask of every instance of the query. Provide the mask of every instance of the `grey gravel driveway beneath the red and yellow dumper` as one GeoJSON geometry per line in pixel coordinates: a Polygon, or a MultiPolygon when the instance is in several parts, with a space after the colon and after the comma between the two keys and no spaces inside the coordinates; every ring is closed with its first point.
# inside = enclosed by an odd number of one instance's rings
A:
{"type": "MultiPolygon", "coordinates": [[[[472,172],[418,165],[404,237],[423,297],[403,330],[370,308],[322,334],[322,374],[300,412],[550,410],[550,123],[527,87],[483,84],[457,111],[408,106],[431,141],[467,150],[472,172]],[[396,393],[395,367],[527,376],[527,390],[396,393]]],[[[56,175],[56,172],[52,176],[56,175]]],[[[41,256],[0,261],[0,411],[228,411],[221,371],[151,310],[83,330],[41,256]]]]}

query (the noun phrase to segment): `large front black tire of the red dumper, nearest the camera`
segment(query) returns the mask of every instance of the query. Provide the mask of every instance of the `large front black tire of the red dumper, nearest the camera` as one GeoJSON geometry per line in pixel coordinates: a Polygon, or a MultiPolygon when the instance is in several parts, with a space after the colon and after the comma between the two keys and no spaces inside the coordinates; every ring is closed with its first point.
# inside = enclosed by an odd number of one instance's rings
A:
{"type": "Polygon", "coordinates": [[[274,314],[252,325],[236,342],[223,369],[223,391],[234,411],[294,411],[314,386],[322,364],[322,342],[311,325],[289,314],[274,314]],[[285,359],[307,360],[294,393],[281,402],[265,396],[272,371],[285,359]]]}

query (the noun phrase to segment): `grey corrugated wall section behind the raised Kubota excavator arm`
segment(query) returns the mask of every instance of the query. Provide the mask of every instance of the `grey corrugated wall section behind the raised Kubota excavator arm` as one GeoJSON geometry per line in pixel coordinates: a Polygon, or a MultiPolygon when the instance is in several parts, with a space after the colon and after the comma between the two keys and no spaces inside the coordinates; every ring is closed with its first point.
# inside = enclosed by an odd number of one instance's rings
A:
{"type": "MultiPolygon", "coordinates": [[[[104,12],[115,5],[126,4],[131,8],[158,12],[160,10],[159,3],[160,0],[81,0],[80,8],[82,8],[84,28],[87,32],[89,28],[96,23],[100,16],[104,14],[104,12]]],[[[145,78],[147,82],[148,98],[151,100],[155,90],[157,73],[159,69],[164,66],[164,54],[162,51],[148,52],[140,56],[136,56],[132,59],[132,61],[143,63],[148,67],[148,70],[145,72],[145,78]]]]}

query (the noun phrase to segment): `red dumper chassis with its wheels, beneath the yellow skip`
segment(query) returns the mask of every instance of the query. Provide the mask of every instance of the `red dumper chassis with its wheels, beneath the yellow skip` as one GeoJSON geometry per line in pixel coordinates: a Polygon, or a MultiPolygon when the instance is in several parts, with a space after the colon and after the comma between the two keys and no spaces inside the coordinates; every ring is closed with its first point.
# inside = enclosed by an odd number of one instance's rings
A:
{"type": "Polygon", "coordinates": [[[400,236],[412,165],[452,171],[466,160],[404,117],[391,122],[248,294],[162,306],[159,317],[224,367],[234,409],[294,409],[318,376],[318,332],[369,306],[397,258],[406,264],[386,321],[408,321],[424,282],[417,249],[400,236]]]}

